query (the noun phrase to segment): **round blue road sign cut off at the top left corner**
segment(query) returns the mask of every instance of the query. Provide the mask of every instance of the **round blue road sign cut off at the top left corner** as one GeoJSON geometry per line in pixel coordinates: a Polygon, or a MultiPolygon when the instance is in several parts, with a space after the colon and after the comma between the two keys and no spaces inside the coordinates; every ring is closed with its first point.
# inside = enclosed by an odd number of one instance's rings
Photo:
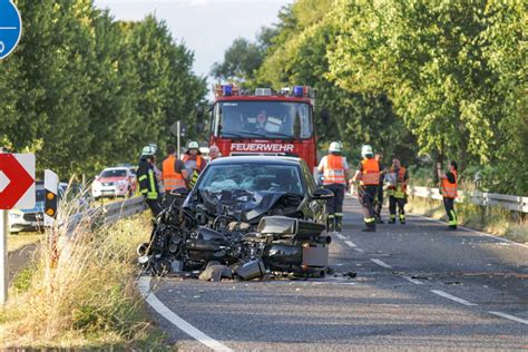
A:
{"type": "Polygon", "coordinates": [[[12,0],[0,0],[0,60],[10,55],[22,35],[22,19],[12,0]]]}

